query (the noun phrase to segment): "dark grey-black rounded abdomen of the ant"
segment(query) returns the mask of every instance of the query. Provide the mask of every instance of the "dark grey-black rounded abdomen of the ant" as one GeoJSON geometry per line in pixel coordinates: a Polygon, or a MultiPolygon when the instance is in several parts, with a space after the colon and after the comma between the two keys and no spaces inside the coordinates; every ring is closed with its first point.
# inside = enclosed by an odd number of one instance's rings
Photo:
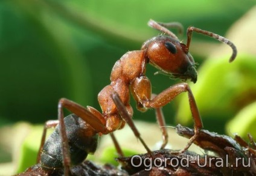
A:
{"type": "MultiPolygon", "coordinates": [[[[98,147],[97,132],[75,114],[64,118],[71,165],[78,165],[98,147]]],[[[40,163],[44,168],[63,168],[62,140],[59,125],[43,145],[40,163]]]]}

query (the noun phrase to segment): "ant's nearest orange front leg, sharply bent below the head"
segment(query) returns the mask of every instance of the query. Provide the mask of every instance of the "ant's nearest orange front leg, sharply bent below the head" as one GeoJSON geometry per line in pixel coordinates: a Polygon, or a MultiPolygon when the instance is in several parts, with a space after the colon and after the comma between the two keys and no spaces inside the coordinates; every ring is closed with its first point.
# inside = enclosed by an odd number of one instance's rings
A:
{"type": "Polygon", "coordinates": [[[190,103],[190,110],[194,120],[194,136],[190,138],[187,145],[183,150],[180,151],[180,153],[184,153],[184,151],[186,151],[190,147],[190,145],[193,144],[194,140],[199,135],[200,129],[202,129],[203,127],[203,123],[196,105],[196,101],[194,100],[194,96],[192,94],[192,91],[190,90],[190,86],[188,86],[187,83],[178,83],[162,91],[162,93],[158,94],[158,96],[156,96],[149,102],[145,102],[147,108],[160,108],[169,103],[176,96],[184,92],[188,93],[188,102],[190,103]]]}

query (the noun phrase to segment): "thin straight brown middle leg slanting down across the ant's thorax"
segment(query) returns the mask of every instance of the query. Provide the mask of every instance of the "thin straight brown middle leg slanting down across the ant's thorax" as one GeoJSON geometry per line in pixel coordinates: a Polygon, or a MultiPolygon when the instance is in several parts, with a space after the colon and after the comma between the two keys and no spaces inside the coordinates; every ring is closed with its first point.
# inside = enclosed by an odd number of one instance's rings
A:
{"type": "Polygon", "coordinates": [[[136,138],[138,138],[139,141],[141,141],[142,145],[146,148],[147,153],[152,153],[152,151],[149,149],[149,147],[147,147],[146,143],[141,138],[141,134],[139,134],[138,129],[136,128],[135,124],[132,121],[132,118],[130,117],[130,115],[128,114],[128,112],[126,110],[126,106],[124,106],[124,104],[121,101],[118,94],[116,92],[114,92],[111,94],[111,97],[115,103],[115,106],[117,106],[117,109],[118,109],[118,112],[119,112],[121,118],[123,118],[124,121],[126,121],[126,123],[130,126],[130,128],[132,129],[136,138]]]}

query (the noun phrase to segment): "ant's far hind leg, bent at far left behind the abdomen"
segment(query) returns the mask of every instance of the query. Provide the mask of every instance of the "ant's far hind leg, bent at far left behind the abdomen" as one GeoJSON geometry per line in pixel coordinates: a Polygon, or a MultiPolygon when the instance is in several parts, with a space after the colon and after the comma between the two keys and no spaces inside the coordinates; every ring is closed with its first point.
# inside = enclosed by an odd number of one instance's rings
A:
{"type": "Polygon", "coordinates": [[[59,124],[58,120],[48,120],[48,121],[46,121],[46,123],[43,127],[43,134],[42,134],[42,138],[41,138],[41,144],[40,144],[40,147],[39,147],[39,151],[37,153],[37,159],[36,159],[37,163],[39,163],[40,159],[41,159],[41,153],[42,153],[43,145],[45,144],[46,130],[56,127],[57,124],[59,124]]]}

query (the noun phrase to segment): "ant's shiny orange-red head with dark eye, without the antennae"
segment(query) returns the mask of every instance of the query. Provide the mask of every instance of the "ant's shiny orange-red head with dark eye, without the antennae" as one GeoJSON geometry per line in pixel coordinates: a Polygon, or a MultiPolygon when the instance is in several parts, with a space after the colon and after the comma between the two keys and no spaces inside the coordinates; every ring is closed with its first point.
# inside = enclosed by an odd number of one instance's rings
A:
{"type": "Polygon", "coordinates": [[[194,59],[185,44],[167,35],[159,35],[146,41],[142,49],[146,50],[150,64],[163,73],[182,80],[191,79],[196,83],[197,73],[194,59]]]}

